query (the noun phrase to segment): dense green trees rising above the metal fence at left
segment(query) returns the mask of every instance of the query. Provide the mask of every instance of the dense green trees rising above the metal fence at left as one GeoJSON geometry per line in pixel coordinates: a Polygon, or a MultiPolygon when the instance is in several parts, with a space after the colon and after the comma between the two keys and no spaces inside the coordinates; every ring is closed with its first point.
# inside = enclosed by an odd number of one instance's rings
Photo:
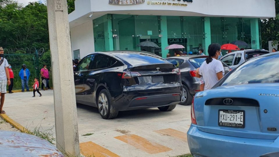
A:
{"type": "MultiPolygon", "coordinates": [[[[74,11],[74,0],[67,0],[68,12],[74,11]]],[[[47,6],[30,2],[23,7],[15,0],[0,0],[0,47],[49,48],[47,6]]]]}

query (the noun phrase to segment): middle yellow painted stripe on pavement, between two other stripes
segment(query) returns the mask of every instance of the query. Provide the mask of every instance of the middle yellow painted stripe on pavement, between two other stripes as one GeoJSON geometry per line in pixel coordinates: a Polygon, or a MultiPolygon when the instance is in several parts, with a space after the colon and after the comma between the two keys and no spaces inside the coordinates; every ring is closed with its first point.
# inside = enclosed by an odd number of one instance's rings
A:
{"type": "Polygon", "coordinates": [[[142,138],[135,134],[130,135],[123,135],[123,136],[117,136],[115,137],[118,140],[121,140],[127,144],[130,144],[137,149],[141,149],[149,154],[156,154],[156,153],[162,153],[166,151],[171,151],[169,147],[163,146],[161,144],[151,142],[145,138],[142,138]]]}

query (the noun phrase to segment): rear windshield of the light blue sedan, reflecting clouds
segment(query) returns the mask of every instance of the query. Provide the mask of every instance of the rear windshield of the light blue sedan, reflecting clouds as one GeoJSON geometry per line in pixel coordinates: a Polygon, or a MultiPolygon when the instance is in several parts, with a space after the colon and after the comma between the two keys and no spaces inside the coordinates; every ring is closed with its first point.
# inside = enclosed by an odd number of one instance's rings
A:
{"type": "Polygon", "coordinates": [[[249,60],[230,74],[223,82],[222,86],[252,83],[279,83],[278,60],[278,54],[249,60]]]}

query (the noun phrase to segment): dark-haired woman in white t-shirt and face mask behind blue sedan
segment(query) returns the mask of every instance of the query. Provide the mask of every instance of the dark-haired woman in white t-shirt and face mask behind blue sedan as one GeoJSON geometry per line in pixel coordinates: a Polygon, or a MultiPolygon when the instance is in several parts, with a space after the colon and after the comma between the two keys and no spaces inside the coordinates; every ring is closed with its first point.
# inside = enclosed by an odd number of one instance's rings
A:
{"type": "Polygon", "coordinates": [[[208,54],[209,56],[196,73],[196,77],[203,77],[205,82],[204,90],[210,90],[225,74],[223,64],[218,60],[218,57],[221,56],[220,44],[210,44],[208,54]]]}

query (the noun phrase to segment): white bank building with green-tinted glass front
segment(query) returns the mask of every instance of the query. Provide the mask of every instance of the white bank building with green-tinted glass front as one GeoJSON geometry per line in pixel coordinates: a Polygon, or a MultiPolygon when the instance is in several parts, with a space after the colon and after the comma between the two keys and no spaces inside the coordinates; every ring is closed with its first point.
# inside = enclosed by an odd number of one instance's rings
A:
{"type": "Polygon", "coordinates": [[[166,57],[174,53],[164,50],[170,44],[197,53],[235,40],[261,49],[260,19],[271,17],[274,0],[76,0],[69,14],[72,54],[145,50],[166,57]],[[160,48],[137,47],[143,41],[160,48]]]}

